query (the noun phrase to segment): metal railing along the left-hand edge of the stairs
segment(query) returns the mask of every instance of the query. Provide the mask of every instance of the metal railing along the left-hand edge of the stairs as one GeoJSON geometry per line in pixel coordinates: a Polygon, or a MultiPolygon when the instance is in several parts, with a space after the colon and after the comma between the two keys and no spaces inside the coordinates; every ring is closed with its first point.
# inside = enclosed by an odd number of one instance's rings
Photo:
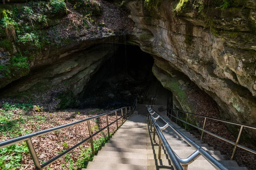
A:
{"type": "MultiPolygon", "coordinates": [[[[137,100],[135,100],[134,103],[135,103],[135,105],[137,105],[137,100]]],[[[119,108],[119,109],[116,109],[114,111],[110,111],[108,113],[103,113],[103,114],[100,114],[100,115],[97,115],[97,116],[92,116],[92,117],[89,117],[89,118],[86,118],[86,119],[82,119],[82,120],[79,120],[79,121],[76,121],[76,122],[72,122],[72,123],[69,123],[69,124],[66,124],[66,125],[61,125],[61,126],[58,126],[58,127],[53,127],[53,128],[47,129],[47,130],[41,130],[39,132],[31,133],[31,134],[28,134],[28,135],[25,135],[25,136],[20,136],[20,137],[17,137],[15,139],[10,139],[10,140],[7,140],[7,141],[3,141],[3,142],[0,142],[0,149],[3,148],[3,147],[8,147],[10,145],[17,144],[17,143],[25,141],[27,147],[29,148],[29,153],[30,153],[30,155],[32,157],[32,160],[34,162],[35,170],[41,170],[41,169],[49,166],[50,164],[52,164],[53,162],[57,161],[61,157],[65,156],[66,154],[70,153],[72,150],[76,149],[77,147],[79,147],[84,142],[87,142],[88,140],[90,140],[92,153],[94,155],[93,136],[96,136],[102,130],[105,130],[107,128],[108,129],[108,138],[110,138],[109,126],[111,126],[114,123],[116,123],[116,129],[117,129],[119,127],[118,126],[118,120],[119,119],[122,119],[122,123],[123,123],[124,122],[124,117],[125,117],[125,119],[127,119],[128,117],[131,116],[131,108],[132,107],[119,108]],[[124,115],[123,115],[123,110],[125,110],[125,114],[124,115]],[[120,118],[117,118],[117,111],[121,111],[121,117],[120,118]],[[109,123],[108,122],[108,115],[111,114],[111,113],[115,113],[116,114],[116,120],[114,122],[109,123]],[[129,116],[128,116],[128,113],[129,113],[129,116]],[[90,128],[90,120],[91,119],[96,119],[96,118],[99,118],[99,117],[102,117],[102,116],[106,116],[107,126],[103,127],[101,130],[98,130],[97,132],[92,134],[91,128],[90,128]],[[48,133],[52,133],[52,132],[55,132],[57,130],[61,130],[61,129],[64,129],[64,128],[67,128],[67,127],[71,127],[73,125],[78,125],[78,124],[83,123],[83,122],[87,122],[89,137],[87,137],[86,139],[82,140],[81,142],[79,142],[78,144],[74,145],[73,147],[70,147],[69,149],[65,150],[64,152],[62,152],[58,156],[55,156],[54,158],[50,159],[49,161],[45,162],[44,164],[40,164],[40,162],[38,160],[38,156],[36,154],[35,148],[33,146],[32,140],[31,140],[32,138],[35,138],[37,136],[42,136],[42,135],[45,135],[45,134],[48,134],[48,133]]],[[[134,108],[132,108],[132,113],[133,113],[133,111],[134,111],[134,108]]]]}

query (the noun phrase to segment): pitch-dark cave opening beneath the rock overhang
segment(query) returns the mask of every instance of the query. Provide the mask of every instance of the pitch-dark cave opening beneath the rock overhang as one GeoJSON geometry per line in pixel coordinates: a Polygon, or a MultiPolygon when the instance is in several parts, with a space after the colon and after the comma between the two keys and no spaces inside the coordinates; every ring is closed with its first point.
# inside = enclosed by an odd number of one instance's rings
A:
{"type": "Polygon", "coordinates": [[[154,79],[153,57],[138,46],[113,44],[115,51],[84,87],[81,108],[132,105],[154,79]]]}

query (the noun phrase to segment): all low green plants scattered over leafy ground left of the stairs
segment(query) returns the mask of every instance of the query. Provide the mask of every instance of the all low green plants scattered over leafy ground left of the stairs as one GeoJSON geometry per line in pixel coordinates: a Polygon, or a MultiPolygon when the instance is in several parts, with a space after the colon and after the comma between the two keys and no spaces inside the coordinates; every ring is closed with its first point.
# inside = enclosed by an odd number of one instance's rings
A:
{"type": "MultiPolygon", "coordinates": [[[[33,107],[33,105],[26,103],[3,104],[0,108],[0,136],[9,136],[11,138],[15,138],[18,136],[32,133],[31,130],[24,128],[24,125],[28,122],[29,124],[36,125],[37,128],[41,127],[40,124],[45,124],[46,117],[44,116],[28,116],[24,114],[24,112],[30,111],[33,107]]],[[[97,125],[94,125],[93,127],[95,130],[99,130],[99,127],[97,125]]],[[[95,153],[97,153],[102,148],[102,145],[105,144],[107,141],[108,137],[99,137],[98,140],[94,140],[93,146],[95,153]]],[[[70,147],[68,142],[65,141],[62,143],[62,146],[64,147],[64,150],[70,147]]],[[[62,165],[63,169],[77,170],[80,167],[87,167],[88,161],[93,160],[91,148],[85,148],[84,146],[80,146],[79,149],[81,149],[81,153],[78,155],[77,161],[73,160],[71,154],[67,154],[64,157],[64,160],[69,163],[69,167],[64,167],[64,165],[62,165]]],[[[25,142],[0,149],[0,169],[16,170],[22,167],[21,161],[23,154],[29,154],[29,150],[25,142]]]]}

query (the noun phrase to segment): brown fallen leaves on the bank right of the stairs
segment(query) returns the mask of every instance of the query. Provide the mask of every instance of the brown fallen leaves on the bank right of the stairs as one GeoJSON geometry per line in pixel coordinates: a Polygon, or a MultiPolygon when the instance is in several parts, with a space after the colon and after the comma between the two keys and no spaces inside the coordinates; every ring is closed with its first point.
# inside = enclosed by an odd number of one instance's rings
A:
{"type": "MultiPolygon", "coordinates": [[[[193,87],[193,90],[190,91],[188,95],[189,100],[196,103],[197,105],[195,109],[196,114],[221,119],[217,103],[211,97],[201,91],[201,89],[198,87],[193,87]]],[[[192,117],[195,118],[197,122],[199,122],[199,126],[202,128],[204,124],[204,118],[200,118],[198,116],[192,117]]],[[[190,119],[192,117],[190,117],[190,119]]],[[[240,127],[236,126],[236,128],[239,130],[240,127]]],[[[232,142],[236,142],[237,136],[234,136],[223,122],[207,119],[205,129],[232,142]]],[[[190,133],[195,135],[198,139],[201,138],[201,131],[199,132],[198,130],[192,130],[190,133]]],[[[209,144],[209,146],[213,146],[215,150],[221,151],[221,154],[227,155],[227,159],[231,158],[234,150],[234,146],[232,144],[229,144],[228,142],[225,142],[207,133],[204,133],[203,141],[204,143],[209,144]]],[[[242,140],[239,142],[239,144],[256,150],[255,145],[243,142],[242,140]]],[[[250,170],[255,170],[256,155],[253,153],[239,148],[234,160],[239,164],[239,166],[246,166],[250,170]]]]}

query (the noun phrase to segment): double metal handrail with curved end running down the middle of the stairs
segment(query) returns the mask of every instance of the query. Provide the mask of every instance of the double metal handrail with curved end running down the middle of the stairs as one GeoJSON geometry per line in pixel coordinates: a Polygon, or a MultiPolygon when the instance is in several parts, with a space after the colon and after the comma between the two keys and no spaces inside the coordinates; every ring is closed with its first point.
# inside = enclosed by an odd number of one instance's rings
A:
{"type": "Polygon", "coordinates": [[[206,150],[204,150],[202,147],[200,147],[198,144],[193,142],[191,139],[189,139],[186,135],[184,135],[180,130],[178,130],[174,125],[172,125],[168,120],[166,120],[162,115],[157,114],[156,111],[154,111],[151,107],[148,107],[148,115],[149,115],[149,124],[150,129],[152,130],[152,124],[154,125],[154,133],[153,133],[153,140],[155,139],[155,132],[157,130],[158,136],[159,136],[159,149],[158,149],[158,159],[161,159],[161,148],[162,148],[162,142],[163,147],[166,149],[166,152],[172,161],[172,165],[175,170],[187,170],[188,165],[191,164],[195,159],[197,159],[200,155],[203,156],[207,161],[209,161],[216,169],[218,170],[228,170],[226,167],[224,167],[223,164],[221,164],[217,159],[215,159],[213,156],[211,156],[206,150]],[[154,117],[153,115],[156,114],[157,117],[154,117]],[[161,118],[164,122],[166,122],[166,125],[163,127],[160,127],[157,125],[157,119],[161,118]],[[171,127],[177,135],[179,135],[182,139],[184,139],[190,146],[194,147],[196,151],[192,153],[188,158],[181,159],[177,154],[172,150],[172,147],[170,147],[169,143],[167,142],[166,138],[163,136],[163,130],[167,127],[171,127]]]}

